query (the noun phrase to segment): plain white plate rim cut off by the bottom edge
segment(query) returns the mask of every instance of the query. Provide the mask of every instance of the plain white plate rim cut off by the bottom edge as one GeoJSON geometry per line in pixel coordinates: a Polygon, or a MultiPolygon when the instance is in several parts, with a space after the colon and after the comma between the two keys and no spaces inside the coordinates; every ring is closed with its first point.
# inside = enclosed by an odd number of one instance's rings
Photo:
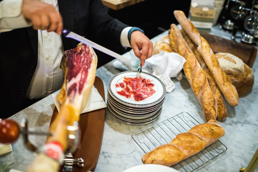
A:
{"type": "Polygon", "coordinates": [[[142,164],[124,170],[123,172],[179,172],[174,168],[158,164],[142,164]]]}

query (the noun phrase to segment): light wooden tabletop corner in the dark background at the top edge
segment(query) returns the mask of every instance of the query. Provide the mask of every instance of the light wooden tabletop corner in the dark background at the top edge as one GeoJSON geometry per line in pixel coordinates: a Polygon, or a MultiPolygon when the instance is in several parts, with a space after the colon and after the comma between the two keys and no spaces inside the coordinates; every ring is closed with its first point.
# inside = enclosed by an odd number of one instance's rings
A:
{"type": "Polygon", "coordinates": [[[120,10],[122,8],[125,8],[125,7],[130,6],[130,5],[137,4],[137,3],[142,2],[142,1],[144,1],[144,0],[122,0],[122,1],[102,0],[102,3],[104,5],[107,5],[109,8],[111,8],[113,10],[120,10]]]}

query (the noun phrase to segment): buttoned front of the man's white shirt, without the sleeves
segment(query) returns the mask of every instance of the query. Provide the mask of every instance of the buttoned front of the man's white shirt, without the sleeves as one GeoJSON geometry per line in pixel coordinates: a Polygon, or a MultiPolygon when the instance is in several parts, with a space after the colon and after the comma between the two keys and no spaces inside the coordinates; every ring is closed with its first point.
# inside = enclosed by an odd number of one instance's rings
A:
{"type": "MultiPolygon", "coordinates": [[[[58,11],[57,0],[41,1],[52,4],[58,11]]],[[[38,30],[38,64],[26,98],[44,98],[62,87],[64,72],[60,69],[60,62],[63,54],[61,35],[38,30]]]]}

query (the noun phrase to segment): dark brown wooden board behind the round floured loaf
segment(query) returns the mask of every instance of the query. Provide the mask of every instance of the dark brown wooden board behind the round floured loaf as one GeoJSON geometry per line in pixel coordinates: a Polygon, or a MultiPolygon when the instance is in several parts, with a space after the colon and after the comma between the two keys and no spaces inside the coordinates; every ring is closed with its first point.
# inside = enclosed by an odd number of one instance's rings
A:
{"type": "Polygon", "coordinates": [[[200,35],[209,43],[214,54],[231,53],[241,58],[248,66],[253,66],[257,54],[257,49],[253,45],[228,40],[206,32],[200,32],[200,35]]]}

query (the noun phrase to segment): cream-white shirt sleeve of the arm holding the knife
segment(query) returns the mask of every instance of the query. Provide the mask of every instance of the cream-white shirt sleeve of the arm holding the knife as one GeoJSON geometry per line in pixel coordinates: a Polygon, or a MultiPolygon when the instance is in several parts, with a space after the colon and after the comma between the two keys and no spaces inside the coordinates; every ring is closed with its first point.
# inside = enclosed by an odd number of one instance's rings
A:
{"type": "Polygon", "coordinates": [[[0,2],[0,33],[31,26],[31,23],[21,14],[22,1],[3,0],[0,2]]]}

